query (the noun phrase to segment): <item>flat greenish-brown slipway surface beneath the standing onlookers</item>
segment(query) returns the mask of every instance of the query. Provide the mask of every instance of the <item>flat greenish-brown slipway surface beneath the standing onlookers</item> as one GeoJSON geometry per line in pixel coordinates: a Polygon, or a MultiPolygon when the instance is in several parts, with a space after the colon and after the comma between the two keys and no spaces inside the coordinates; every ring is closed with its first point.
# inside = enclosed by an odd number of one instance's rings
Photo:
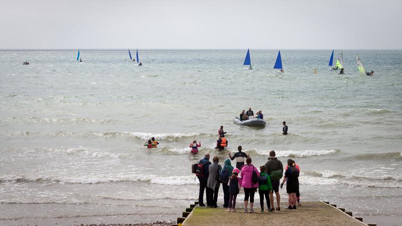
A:
{"type": "Polygon", "coordinates": [[[237,212],[227,212],[227,208],[207,208],[197,204],[194,202],[181,217],[177,217],[177,225],[376,225],[366,224],[361,217],[353,217],[351,211],[323,201],[303,202],[303,206],[297,206],[297,209],[283,208],[273,212],[260,212],[259,206],[255,206],[254,213],[245,213],[242,208],[237,208],[237,212]]]}

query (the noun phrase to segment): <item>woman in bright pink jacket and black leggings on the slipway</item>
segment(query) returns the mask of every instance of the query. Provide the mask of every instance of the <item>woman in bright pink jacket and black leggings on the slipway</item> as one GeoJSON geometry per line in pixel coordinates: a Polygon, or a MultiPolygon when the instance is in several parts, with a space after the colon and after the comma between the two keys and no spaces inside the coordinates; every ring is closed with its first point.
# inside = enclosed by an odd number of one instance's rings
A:
{"type": "Polygon", "coordinates": [[[248,197],[250,196],[250,212],[254,212],[254,193],[258,188],[258,179],[256,183],[253,183],[253,171],[257,174],[257,178],[260,177],[258,169],[251,164],[251,158],[246,159],[247,165],[244,165],[241,172],[242,187],[244,188],[244,212],[247,211],[248,197]]]}

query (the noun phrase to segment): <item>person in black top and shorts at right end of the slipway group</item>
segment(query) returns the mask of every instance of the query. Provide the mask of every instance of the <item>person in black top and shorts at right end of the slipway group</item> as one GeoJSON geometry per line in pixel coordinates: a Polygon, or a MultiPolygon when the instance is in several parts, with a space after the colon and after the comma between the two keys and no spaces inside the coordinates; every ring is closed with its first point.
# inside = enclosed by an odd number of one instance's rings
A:
{"type": "Polygon", "coordinates": [[[283,183],[286,181],[286,193],[289,203],[289,206],[286,209],[296,209],[296,192],[298,190],[299,171],[291,159],[287,160],[287,166],[288,168],[285,171],[285,176],[280,184],[280,188],[282,188],[283,183]]]}

